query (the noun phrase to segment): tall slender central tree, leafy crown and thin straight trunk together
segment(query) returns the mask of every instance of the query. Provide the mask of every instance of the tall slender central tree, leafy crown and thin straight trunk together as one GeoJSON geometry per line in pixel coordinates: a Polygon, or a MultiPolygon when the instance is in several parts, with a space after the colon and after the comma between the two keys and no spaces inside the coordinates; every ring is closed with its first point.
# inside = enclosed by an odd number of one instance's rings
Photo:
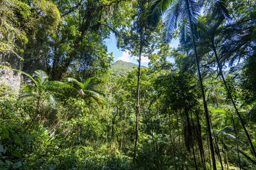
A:
{"type": "Polygon", "coordinates": [[[134,20],[131,28],[125,30],[122,34],[119,47],[128,50],[131,55],[138,57],[138,76],[137,76],[137,106],[136,106],[136,132],[134,144],[133,163],[136,161],[137,142],[139,131],[139,115],[140,115],[140,76],[141,76],[141,59],[151,54],[157,48],[160,26],[149,26],[147,24],[147,14],[150,10],[152,0],[137,0],[134,2],[136,9],[134,20]]]}

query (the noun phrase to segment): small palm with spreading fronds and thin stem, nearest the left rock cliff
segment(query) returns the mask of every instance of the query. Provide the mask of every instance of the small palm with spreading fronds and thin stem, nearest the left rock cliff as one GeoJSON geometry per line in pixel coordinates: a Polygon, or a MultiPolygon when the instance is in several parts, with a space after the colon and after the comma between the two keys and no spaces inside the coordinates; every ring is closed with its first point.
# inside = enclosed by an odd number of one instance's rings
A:
{"type": "Polygon", "coordinates": [[[44,102],[45,99],[47,99],[49,101],[50,105],[52,105],[52,107],[55,108],[56,101],[55,101],[55,97],[54,97],[54,92],[52,92],[49,89],[49,86],[52,84],[57,84],[57,83],[59,84],[61,82],[49,81],[48,80],[49,76],[47,75],[46,72],[44,72],[42,70],[35,70],[35,73],[32,76],[23,71],[18,71],[18,70],[15,70],[15,71],[28,76],[34,84],[34,85],[31,85],[31,84],[24,85],[24,87],[23,87],[24,91],[19,96],[20,99],[26,99],[26,98],[35,98],[36,99],[35,115],[34,115],[33,123],[30,127],[30,128],[32,128],[34,125],[34,122],[35,122],[35,118],[39,114],[40,106],[42,105],[42,102],[44,102]],[[33,77],[35,77],[35,78],[33,78],[33,77]]]}

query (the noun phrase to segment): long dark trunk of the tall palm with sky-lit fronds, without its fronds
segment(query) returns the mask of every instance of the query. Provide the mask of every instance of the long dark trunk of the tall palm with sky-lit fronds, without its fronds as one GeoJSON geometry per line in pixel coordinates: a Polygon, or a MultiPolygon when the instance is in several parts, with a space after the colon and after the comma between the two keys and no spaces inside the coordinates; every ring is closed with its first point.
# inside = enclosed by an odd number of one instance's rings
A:
{"type": "Polygon", "coordinates": [[[206,122],[207,122],[207,131],[208,131],[208,134],[209,134],[209,143],[210,143],[210,149],[211,149],[211,155],[212,155],[212,167],[213,167],[213,170],[217,170],[216,161],[215,161],[215,154],[214,154],[214,147],[213,147],[213,143],[212,143],[212,133],[211,133],[211,127],[210,127],[210,122],[209,122],[209,113],[208,113],[207,103],[206,103],[205,94],[204,94],[204,86],[203,86],[203,81],[202,81],[200,67],[199,67],[198,54],[197,54],[196,45],[195,45],[194,27],[192,26],[189,0],[186,0],[186,7],[187,7],[187,10],[188,10],[188,14],[189,14],[189,25],[190,25],[190,29],[191,29],[191,33],[192,33],[192,41],[193,41],[193,47],[194,47],[195,61],[196,61],[196,65],[197,65],[198,78],[199,78],[201,93],[202,93],[202,97],[203,97],[204,113],[205,113],[206,122]]]}

